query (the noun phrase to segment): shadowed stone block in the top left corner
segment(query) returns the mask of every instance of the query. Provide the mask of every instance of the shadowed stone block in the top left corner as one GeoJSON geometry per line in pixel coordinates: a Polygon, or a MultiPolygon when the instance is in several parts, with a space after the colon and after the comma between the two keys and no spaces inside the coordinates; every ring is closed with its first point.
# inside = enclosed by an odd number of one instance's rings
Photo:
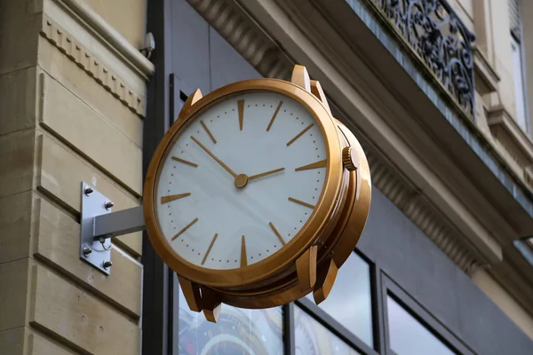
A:
{"type": "Polygon", "coordinates": [[[2,48],[9,48],[0,56],[0,74],[36,65],[37,37],[41,27],[36,10],[28,0],[0,0],[2,48]]]}

